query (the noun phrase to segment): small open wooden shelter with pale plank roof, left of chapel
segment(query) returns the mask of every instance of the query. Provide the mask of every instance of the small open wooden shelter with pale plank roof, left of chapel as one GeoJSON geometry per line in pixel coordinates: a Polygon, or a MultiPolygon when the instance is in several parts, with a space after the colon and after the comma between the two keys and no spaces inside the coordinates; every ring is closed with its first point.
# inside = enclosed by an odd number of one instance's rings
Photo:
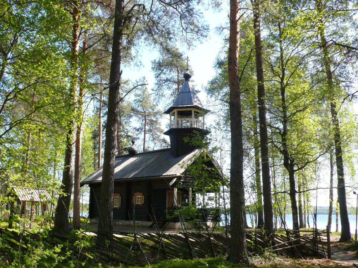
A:
{"type": "Polygon", "coordinates": [[[33,189],[20,186],[10,186],[9,197],[13,197],[14,201],[10,202],[10,223],[11,228],[11,213],[20,215],[20,218],[30,219],[30,228],[33,226],[35,204],[40,203],[43,215],[47,209],[47,203],[51,202],[52,198],[45,189],[33,189]],[[16,205],[15,205],[16,202],[16,205]]]}

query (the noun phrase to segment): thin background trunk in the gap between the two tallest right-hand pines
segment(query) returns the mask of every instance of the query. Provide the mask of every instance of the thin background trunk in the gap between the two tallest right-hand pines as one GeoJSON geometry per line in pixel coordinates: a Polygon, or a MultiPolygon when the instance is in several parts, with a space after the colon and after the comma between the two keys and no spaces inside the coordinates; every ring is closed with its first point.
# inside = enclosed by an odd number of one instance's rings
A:
{"type": "Polygon", "coordinates": [[[257,196],[257,228],[263,228],[263,207],[262,207],[262,188],[260,176],[260,151],[258,149],[258,133],[257,133],[257,118],[256,111],[253,113],[253,135],[254,135],[254,153],[255,153],[255,182],[256,182],[256,196],[257,196]]]}

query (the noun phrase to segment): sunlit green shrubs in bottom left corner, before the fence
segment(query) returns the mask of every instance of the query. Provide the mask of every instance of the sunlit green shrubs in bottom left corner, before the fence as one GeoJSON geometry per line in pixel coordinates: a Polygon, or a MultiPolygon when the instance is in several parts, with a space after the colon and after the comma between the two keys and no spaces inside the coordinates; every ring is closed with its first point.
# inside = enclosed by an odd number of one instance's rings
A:
{"type": "Polygon", "coordinates": [[[72,231],[66,241],[55,238],[48,228],[12,231],[17,234],[2,230],[0,254],[7,267],[83,267],[93,259],[89,250],[95,237],[82,229],[72,231]]]}

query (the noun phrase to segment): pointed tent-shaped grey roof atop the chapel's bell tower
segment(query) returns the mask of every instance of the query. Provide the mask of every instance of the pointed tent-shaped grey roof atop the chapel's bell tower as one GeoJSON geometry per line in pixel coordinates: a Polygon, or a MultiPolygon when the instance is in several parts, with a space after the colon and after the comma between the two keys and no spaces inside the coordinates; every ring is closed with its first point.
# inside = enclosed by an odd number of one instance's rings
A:
{"type": "Polygon", "coordinates": [[[189,80],[185,80],[182,88],[176,96],[173,105],[164,113],[169,114],[176,108],[197,108],[200,110],[207,111],[204,109],[195,89],[190,85],[189,80]]]}

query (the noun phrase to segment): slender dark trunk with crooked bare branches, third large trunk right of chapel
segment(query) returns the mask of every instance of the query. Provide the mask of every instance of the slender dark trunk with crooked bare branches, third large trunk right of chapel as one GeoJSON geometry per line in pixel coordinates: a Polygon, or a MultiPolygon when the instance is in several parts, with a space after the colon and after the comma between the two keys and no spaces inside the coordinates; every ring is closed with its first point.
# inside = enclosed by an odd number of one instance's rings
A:
{"type": "Polygon", "coordinates": [[[281,89],[281,102],[282,102],[282,133],[281,133],[281,142],[282,142],[282,152],[284,157],[284,167],[289,173],[289,183],[290,183],[290,200],[291,200],[291,209],[292,209],[292,229],[299,231],[298,224],[298,215],[297,215],[297,201],[296,201],[296,187],[295,187],[295,170],[294,170],[294,160],[290,159],[290,154],[287,146],[287,130],[288,130],[288,119],[287,119],[287,105],[286,105],[286,87],[285,87],[285,64],[284,64],[284,50],[282,45],[282,31],[281,23],[278,23],[279,26],[279,35],[280,35],[280,67],[281,67],[281,78],[280,78],[280,89],[281,89]]]}

